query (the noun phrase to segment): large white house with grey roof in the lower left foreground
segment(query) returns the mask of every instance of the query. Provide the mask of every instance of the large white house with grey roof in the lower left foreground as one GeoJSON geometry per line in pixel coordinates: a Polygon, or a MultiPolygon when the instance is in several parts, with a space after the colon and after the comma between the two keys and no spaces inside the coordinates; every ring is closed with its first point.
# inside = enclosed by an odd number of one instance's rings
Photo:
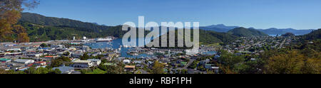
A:
{"type": "Polygon", "coordinates": [[[88,68],[93,67],[93,62],[91,62],[90,60],[76,60],[71,66],[77,68],[88,68]]]}

